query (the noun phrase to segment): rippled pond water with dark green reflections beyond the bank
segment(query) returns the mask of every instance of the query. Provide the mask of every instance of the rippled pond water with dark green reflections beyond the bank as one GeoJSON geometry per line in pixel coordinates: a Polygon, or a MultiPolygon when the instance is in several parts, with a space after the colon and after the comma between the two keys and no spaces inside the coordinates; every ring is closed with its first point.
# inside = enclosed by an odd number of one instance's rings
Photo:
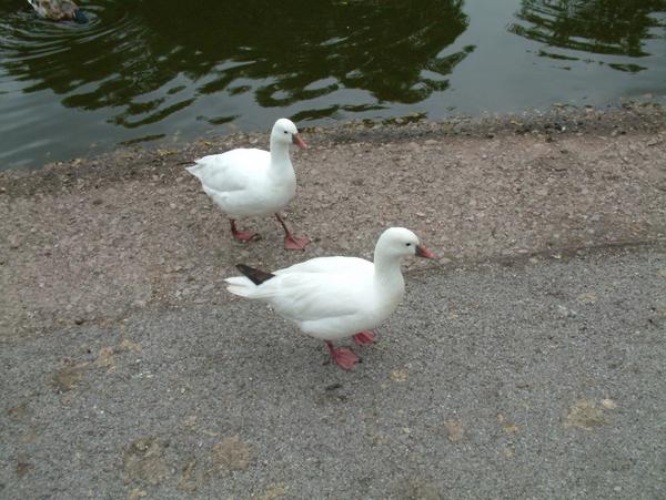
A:
{"type": "Polygon", "coordinates": [[[666,103],[666,0],[0,3],[0,169],[119,143],[418,114],[666,103]]]}

